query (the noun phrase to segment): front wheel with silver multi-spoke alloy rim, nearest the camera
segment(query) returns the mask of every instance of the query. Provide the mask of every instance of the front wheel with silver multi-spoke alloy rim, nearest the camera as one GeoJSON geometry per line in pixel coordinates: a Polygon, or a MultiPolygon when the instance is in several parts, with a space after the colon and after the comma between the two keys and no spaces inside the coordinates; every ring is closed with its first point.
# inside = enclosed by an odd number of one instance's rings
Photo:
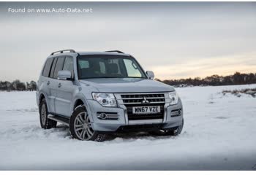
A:
{"type": "Polygon", "coordinates": [[[94,131],[85,106],[79,106],[69,120],[69,131],[73,139],[86,141],[105,141],[106,134],[94,131]]]}

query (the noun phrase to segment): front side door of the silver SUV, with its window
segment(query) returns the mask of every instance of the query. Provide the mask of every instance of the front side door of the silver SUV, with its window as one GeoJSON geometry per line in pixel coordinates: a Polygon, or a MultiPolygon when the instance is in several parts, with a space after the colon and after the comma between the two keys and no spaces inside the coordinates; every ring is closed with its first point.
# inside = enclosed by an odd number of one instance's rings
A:
{"type": "MultiPolygon", "coordinates": [[[[74,59],[67,56],[61,70],[70,71],[72,79],[74,79],[74,59]]],[[[72,80],[59,80],[56,86],[56,112],[57,114],[70,117],[71,115],[71,101],[75,91],[75,85],[72,80]]]]}

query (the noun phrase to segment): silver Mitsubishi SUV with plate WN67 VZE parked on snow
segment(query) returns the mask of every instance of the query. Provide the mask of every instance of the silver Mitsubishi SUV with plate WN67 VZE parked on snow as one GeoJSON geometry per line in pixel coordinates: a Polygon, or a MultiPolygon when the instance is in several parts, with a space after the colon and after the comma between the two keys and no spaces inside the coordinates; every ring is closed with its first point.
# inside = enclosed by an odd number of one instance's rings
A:
{"type": "Polygon", "coordinates": [[[184,125],[181,99],[153,79],[152,71],[118,50],[53,52],[37,85],[41,127],[59,122],[72,138],[93,141],[118,132],[176,136],[184,125]]]}

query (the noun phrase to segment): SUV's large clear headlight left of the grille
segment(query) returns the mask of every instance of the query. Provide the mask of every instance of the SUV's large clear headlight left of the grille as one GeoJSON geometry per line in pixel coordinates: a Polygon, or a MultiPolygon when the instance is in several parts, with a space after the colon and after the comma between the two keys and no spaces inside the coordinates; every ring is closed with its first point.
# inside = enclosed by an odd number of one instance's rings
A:
{"type": "Polygon", "coordinates": [[[113,93],[92,93],[92,98],[106,107],[116,107],[116,98],[113,93]]]}

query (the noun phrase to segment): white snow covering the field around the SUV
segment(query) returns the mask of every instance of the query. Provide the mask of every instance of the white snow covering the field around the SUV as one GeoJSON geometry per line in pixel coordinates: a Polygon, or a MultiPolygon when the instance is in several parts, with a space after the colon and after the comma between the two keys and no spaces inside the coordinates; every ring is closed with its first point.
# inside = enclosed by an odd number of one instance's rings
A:
{"type": "Polygon", "coordinates": [[[256,170],[256,98],[221,94],[256,85],[176,88],[184,104],[178,137],[70,139],[43,130],[34,92],[0,92],[1,170],[256,170]]]}

